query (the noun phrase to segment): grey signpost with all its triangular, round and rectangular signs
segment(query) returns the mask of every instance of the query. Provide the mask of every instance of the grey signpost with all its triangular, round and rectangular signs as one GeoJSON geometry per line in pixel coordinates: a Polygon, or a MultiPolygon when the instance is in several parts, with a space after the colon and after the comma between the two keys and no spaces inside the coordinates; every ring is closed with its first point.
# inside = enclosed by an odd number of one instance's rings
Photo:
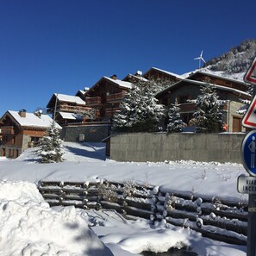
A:
{"type": "MultiPolygon", "coordinates": [[[[247,113],[242,120],[242,125],[247,128],[256,128],[256,58],[249,67],[244,81],[254,85],[254,98],[247,113]]],[[[250,176],[241,175],[237,179],[239,193],[249,195],[248,222],[247,222],[247,256],[256,253],[256,130],[249,132],[243,140],[241,147],[243,165],[250,176]]]]}

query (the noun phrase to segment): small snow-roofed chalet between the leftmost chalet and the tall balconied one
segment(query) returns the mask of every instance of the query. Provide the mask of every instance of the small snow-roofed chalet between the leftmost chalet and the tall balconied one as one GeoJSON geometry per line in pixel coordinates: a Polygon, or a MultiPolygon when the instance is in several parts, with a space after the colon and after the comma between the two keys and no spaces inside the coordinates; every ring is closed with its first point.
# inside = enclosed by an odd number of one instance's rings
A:
{"type": "MultiPolygon", "coordinates": [[[[80,93],[83,95],[82,91],[80,93]]],[[[47,103],[47,113],[52,114],[53,119],[61,126],[91,121],[97,118],[97,112],[87,107],[81,97],[59,93],[54,93],[49,103],[47,103]]]]}

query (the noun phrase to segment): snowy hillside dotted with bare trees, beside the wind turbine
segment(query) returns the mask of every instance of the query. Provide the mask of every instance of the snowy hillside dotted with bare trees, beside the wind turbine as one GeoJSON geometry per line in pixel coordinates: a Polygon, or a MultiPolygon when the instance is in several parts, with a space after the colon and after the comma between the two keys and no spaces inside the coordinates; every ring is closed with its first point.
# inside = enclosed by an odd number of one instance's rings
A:
{"type": "Polygon", "coordinates": [[[255,56],[256,39],[243,41],[240,46],[233,47],[228,53],[207,61],[202,70],[242,80],[255,56]]]}

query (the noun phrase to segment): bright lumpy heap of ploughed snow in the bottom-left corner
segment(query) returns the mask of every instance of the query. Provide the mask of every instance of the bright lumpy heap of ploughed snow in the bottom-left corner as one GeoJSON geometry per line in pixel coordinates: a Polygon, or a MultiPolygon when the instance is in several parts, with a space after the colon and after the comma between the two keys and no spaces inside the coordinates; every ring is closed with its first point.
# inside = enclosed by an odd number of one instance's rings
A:
{"type": "Polygon", "coordinates": [[[0,183],[0,254],[113,255],[74,207],[50,209],[35,184],[0,183]]]}

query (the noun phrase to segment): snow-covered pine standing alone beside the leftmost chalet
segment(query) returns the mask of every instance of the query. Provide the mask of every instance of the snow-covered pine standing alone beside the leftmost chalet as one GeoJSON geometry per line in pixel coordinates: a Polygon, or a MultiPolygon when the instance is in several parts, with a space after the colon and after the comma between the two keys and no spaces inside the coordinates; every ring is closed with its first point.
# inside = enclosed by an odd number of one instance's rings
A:
{"type": "Polygon", "coordinates": [[[64,153],[62,140],[59,139],[59,129],[56,128],[55,122],[47,128],[46,135],[41,138],[39,154],[41,163],[58,163],[63,161],[64,153]]]}

